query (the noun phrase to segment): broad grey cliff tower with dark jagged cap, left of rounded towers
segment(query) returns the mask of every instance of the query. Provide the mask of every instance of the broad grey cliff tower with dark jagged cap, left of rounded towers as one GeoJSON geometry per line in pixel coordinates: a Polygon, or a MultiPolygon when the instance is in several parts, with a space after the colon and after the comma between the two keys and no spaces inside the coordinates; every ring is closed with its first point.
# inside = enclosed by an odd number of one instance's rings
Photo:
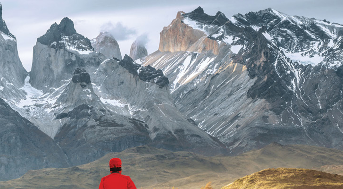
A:
{"type": "Polygon", "coordinates": [[[46,92],[62,86],[76,68],[94,70],[104,59],[103,54],[94,51],[88,38],[76,33],[74,23],[64,18],[37,39],[29,83],[46,92]]]}

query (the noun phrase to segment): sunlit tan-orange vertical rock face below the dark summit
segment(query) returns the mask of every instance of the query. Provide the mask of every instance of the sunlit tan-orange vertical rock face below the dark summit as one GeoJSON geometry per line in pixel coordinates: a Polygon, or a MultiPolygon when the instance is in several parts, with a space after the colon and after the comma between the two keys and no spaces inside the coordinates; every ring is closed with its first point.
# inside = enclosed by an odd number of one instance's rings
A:
{"type": "Polygon", "coordinates": [[[211,51],[218,54],[219,44],[206,37],[203,31],[193,29],[181,21],[184,12],[179,11],[176,18],[160,32],[158,50],[161,52],[192,51],[204,52],[211,51]]]}

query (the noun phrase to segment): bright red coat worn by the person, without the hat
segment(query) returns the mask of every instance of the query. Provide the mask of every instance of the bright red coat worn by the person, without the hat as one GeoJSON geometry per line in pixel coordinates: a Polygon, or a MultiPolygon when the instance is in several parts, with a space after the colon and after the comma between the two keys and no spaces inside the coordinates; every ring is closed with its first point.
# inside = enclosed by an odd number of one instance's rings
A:
{"type": "Polygon", "coordinates": [[[99,189],[136,189],[129,176],[114,172],[103,177],[99,189]]]}

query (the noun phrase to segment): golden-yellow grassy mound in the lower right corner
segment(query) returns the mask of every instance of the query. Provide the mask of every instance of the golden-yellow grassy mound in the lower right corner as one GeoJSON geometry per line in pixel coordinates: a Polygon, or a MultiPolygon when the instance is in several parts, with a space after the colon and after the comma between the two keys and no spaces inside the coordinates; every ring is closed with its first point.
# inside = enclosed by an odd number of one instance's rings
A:
{"type": "Polygon", "coordinates": [[[343,176],[311,169],[264,169],[222,189],[342,189],[343,176]]]}

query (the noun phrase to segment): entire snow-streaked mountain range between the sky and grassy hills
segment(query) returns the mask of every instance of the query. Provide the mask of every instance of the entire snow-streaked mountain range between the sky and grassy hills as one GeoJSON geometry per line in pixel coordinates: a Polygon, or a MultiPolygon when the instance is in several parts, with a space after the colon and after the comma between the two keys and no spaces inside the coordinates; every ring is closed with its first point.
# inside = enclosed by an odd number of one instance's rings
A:
{"type": "Polygon", "coordinates": [[[109,33],[90,40],[66,17],[37,38],[28,73],[0,24],[0,180],[141,145],[206,156],[273,142],[343,149],[343,25],[199,7],[177,13],[156,52],[136,40],[122,57],[109,33]]]}

